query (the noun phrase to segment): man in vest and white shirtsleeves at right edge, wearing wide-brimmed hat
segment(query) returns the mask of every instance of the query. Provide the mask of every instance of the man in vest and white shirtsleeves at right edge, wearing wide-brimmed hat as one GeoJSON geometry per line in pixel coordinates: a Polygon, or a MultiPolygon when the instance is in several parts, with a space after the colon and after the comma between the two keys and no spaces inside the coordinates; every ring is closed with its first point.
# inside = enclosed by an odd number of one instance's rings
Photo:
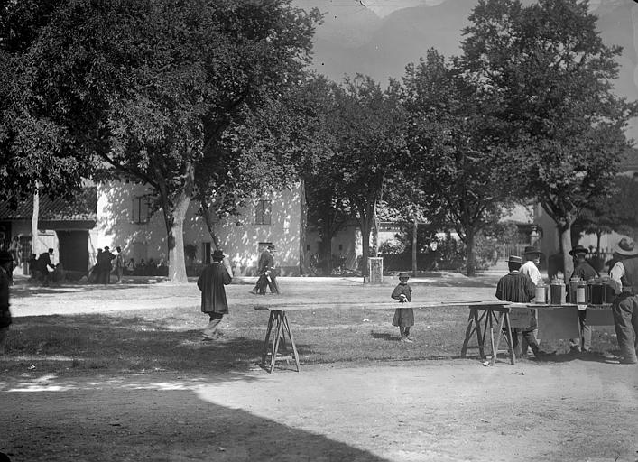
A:
{"type": "Polygon", "coordinates": [[[614,248],[622,260],[609,272],[616,297],[612,303],[622,364],[638,364],[638,246],[623,237],[614,248]]]}

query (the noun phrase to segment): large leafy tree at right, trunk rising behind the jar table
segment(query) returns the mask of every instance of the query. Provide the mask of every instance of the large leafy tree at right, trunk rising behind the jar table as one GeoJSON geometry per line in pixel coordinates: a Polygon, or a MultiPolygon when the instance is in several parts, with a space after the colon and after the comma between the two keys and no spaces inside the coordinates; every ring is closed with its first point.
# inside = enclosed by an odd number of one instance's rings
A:
{"type": "Polygon", "coordinates": [[[578,212],[605,194],[627,147],[624,128],[635,104],[615,96],[615,58],[596,31],[587,2],[480,0],[464,31],[463,65],[502,98],[489,116],[517,147],[526,187],[554,219],[566,273],[569,229],[578,212]]]}

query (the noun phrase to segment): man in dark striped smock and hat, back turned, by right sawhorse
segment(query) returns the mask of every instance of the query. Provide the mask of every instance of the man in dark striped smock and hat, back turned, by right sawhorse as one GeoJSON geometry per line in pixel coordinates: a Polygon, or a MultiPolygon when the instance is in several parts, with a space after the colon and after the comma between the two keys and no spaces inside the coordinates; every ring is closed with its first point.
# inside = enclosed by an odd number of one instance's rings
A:
{"type": "MultiPolygon", "coordinates": [[[[496,298],[498,300],[513,301],[517,303],[529,303],[536,296],[536,286],[527,274],[521,273],[522,258],[517,255],[511,255],[507,261],[507,267],[510,273],[505,274],[496,284],[496,298]]],[[[529,311],[529,326],[527,328],[513,328],[512,342],[515,354],[521,355],[519,347],[519,334],[527,340],[528,345],[532,348],[534,356],[541,358],[547,356],[547,353],[541,351],[536,338],[533,335],[537,328],[536,317],[532,310],[529,311]]]]}

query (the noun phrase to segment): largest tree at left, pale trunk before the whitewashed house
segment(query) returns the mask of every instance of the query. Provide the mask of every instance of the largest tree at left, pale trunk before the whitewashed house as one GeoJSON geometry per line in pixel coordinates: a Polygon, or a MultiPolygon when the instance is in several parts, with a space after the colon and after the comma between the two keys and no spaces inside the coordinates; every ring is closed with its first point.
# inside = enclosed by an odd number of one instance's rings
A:
{"type": "Polygon", "coordinates": [[[186,281],[190,201],[243,155],[220,147],[229,127],[301,79],[319,19],[288,0],[69,0],[23,59],[29,115],[54,121],[63,134],[54,139],[97,155],[112,176],[153,187],[169,276],[186,281]]]}

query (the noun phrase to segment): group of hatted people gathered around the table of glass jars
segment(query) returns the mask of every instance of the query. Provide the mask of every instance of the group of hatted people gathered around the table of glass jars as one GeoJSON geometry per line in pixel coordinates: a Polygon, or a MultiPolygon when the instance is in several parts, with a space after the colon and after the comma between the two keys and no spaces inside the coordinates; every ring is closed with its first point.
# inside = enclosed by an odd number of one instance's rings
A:
{"type": "MultiPolygon", "coordinates": [[[[588,249],[582,245],[575,245],[569,254],[574,259],[574,272],[566,278],[572,277],[590,280],[599,276],[596,269],[587,262],[588,249]]],[[[536,286],[542,282],[538,269],[541,252],[528,246],[522,252],[522,257],[511,255],[508,259],[509,273],[505,274],[496,285],[498,300],[529,303],[536,295],[536,286]]],[[[638,363],[638,247],[632,240],[623,238],[615,246],[616,261],[611,267],[609,284],[614,288],[615,300],[612,303],[612,313],[618,347],[620,347],[620,362],[623,364],[638,363]]],[[[571,300],[576,302],[576,300],[571,300]]],[[[529,326],[527,328],[513,328],[512,340],[514,354],[523,355],[527,347],[532,348],[537,357],[544,357],[554,352],[545,352],[538,345],[536,333],[538,331],[536,317],[533,310],[529,310],[529,326]],[[519,341],[522,335],[523,342],[519,341]],[[521,345],[522,347],[519,347],[521,345]]],[[[575,352],[589,352],[591,349],[591,328],[587,325],[587,309],[578,310],[580,338],[569,340],[570,347],[575,352]]]]}

